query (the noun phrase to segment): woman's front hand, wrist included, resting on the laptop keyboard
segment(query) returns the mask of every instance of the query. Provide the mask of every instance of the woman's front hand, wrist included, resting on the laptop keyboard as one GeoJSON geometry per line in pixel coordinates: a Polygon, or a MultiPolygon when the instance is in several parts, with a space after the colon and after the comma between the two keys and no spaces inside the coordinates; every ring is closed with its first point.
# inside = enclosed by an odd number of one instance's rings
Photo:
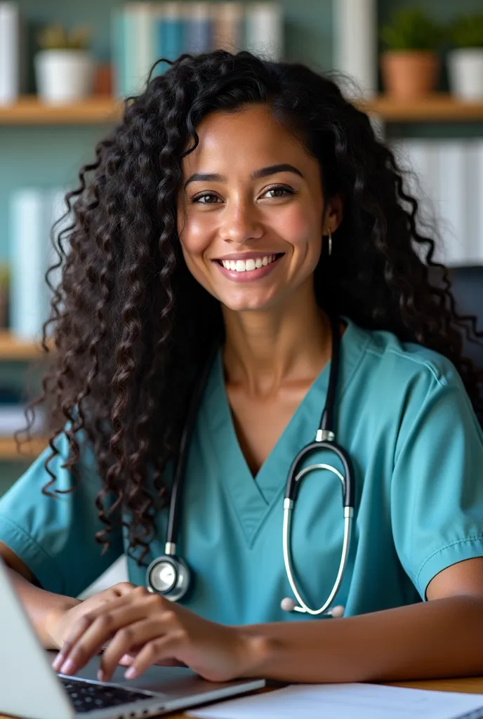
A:
{"type": "Polygon", "coordinates": [[[224,682],[253,676],[265,649],[264,640],[242,628],[208,621],[137,587],[72,623],[52,666],[61,674],[75,674],[106,642],[100,681],[109,681],[122,661],[130,664],[129,679],[152,664],[185,664],[205,679],[224,682]]]}

